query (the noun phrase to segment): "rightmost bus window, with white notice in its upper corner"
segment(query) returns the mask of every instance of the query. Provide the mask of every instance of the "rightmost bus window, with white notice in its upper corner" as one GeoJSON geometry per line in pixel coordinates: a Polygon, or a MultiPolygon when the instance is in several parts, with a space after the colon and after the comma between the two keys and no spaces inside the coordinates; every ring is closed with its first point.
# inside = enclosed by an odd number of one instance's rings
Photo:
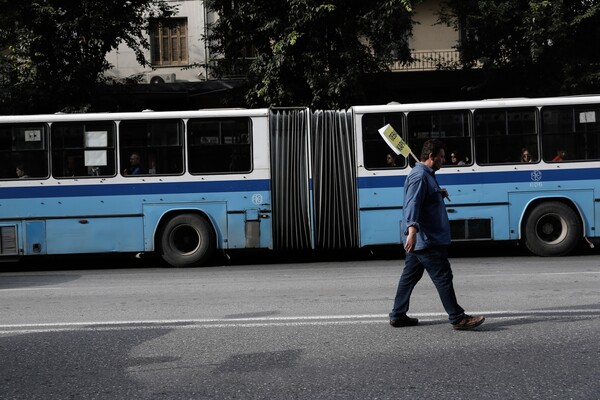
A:
{"type": "Polygon", "coordinates": [[[599,118],[596,104],[542,108],[544,161],[600,159],[599,118]]]}

